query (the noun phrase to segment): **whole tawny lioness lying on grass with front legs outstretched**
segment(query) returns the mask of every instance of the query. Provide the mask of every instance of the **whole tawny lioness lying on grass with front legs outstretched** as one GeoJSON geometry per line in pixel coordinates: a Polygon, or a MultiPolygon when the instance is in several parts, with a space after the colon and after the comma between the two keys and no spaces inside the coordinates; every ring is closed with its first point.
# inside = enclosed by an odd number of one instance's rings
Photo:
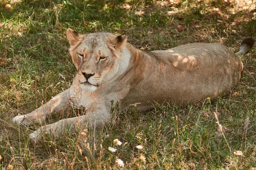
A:
{"type": "MultiPolygon", "coordinates": [[[[31,133],[32,140],[41,132],[70,132],[88,123],[99,127],[111,122],[111,100],[120,109],[140,102],[138,110],[151,108],[151,102],[174,102],[176,105],[215,98],[230,92],[239,82],[243,64],[229,48],[218,43],[192,43],[163,51],[143,51],[127,42],[125,35],[99,32],[78,34],[67,30],[70,55],[77,75],[72,86],[40,108],[16,116],[13,122],[32,125],[44,122],[53,111],[70,104],[84,106],[83,116],[63,119],[31,133]]],[[[238,54],[253,46],[253,39],[242,42],[238,54]]]]}

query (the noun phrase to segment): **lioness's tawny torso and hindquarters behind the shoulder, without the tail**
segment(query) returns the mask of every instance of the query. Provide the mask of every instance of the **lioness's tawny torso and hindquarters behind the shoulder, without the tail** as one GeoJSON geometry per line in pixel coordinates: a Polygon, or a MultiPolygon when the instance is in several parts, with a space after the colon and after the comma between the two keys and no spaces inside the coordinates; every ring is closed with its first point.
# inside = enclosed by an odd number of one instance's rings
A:
{"type": "MultiPolygon", "coordinates": [[[[220,44],[195,43],[166,51],[152,51],[155,67],[145,67],[144,79],[131,85],[125,105],[140,102],[138,109],[170,103],[186,105],[230,92],[239,82],[242,63],[220,44]]],[[[125,106],[124,105],[124,106],[125,106]]]]}

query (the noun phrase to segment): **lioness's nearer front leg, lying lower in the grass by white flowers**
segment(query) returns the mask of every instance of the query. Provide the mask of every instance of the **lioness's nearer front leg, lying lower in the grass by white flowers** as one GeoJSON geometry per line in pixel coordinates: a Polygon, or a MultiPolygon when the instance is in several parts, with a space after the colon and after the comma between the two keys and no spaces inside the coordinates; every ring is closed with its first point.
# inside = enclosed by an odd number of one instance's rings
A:
{"type": "Polygon", "coordinates": [[[101,108],[96,111],[89,111],[83,116],[73,117],[69,119],[62,119],[58,122],[52,123],[50,125],[45,125],[38,130],[35,130],[33,133],[29,134],[32,142],[40,141],[42,135],[48,133],[49,135],[60,136],[62,135],[67,128],[69,132],[73,133],[76,130],[76,127],[88,125],[89,127],[100,127],[102,124],[108,125],[111,122],[110,110],[108,111],[105,108],[101,108]]]}

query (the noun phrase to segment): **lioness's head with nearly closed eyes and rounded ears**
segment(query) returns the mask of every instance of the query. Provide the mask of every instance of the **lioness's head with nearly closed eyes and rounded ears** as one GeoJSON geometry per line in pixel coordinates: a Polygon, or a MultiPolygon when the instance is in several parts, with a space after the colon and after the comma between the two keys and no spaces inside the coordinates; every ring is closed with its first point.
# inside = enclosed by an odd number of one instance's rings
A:
{"type": "Polygon", "coordinates": [[[105,32],[78,34],[69,28],[67,39],[81,88],[95,91],[102,82],[113,78],[127,41],[125,35],[116,36],[105,32]]]}

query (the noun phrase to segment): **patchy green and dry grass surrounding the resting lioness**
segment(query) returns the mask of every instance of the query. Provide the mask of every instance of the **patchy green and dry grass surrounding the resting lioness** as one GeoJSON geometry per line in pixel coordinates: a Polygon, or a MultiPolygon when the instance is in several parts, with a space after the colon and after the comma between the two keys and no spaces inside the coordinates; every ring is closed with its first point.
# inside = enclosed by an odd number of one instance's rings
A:
{"type": "MultiPolygon", "coordinates": [[[[9,11],[4,8],[9,1],[0,1],[0,169],[256,168],[255,49],[241,57],[244,73],[237,88],[213,101],[206,99],[185,108],[155,104],[145,112],[134,108],[122,111],[110,127],[89,129],[86,135],[81,135],[83,128],[72,134],[67,131],[59,138],[46,134],[38,144],[30,143],[28,134],[39,125],[12,124],[17,114],[33,111],[70,87],[76,69],[68,54],[67,28],[126,34],[128,42],[146,50],[219,42],[238,51],[243,38],[255,37],[251,11],[255,11],[255,1],[12,2],[15,9],[9,11]],[[249,123],[244,126],[247,118],[249,123]],[[114,146],[114,139],[122,145],[114,146]],[[117,150],[112,153],[108,147],[117,150]],[[117,159],[125,166],[119,167],[117,159]]],[[[80,111],[69,108],[61,117],[80,111]]],[[[53,116],[50,121],[59,119],[53,116]]]]}

